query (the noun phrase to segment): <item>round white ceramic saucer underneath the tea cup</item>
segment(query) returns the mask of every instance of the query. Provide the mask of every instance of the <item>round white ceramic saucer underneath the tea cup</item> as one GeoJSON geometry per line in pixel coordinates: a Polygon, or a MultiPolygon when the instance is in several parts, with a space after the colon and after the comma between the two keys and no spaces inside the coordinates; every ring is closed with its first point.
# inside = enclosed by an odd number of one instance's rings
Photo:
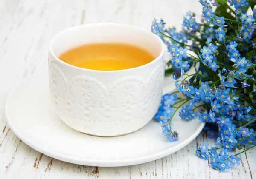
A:
{"type": "Polygon", "coordinates": [[[35,150],[65,162],[113,167],[135,165],[167,156],[183,148],[201,132],[198,119],[173,119],[179,141],[169,142],[152,120],[131,134],[96,137],[68,127],[57,117],[50,100],[48,74],[29,77],[6,100],[6,120],[12,131],[35,150]]]}

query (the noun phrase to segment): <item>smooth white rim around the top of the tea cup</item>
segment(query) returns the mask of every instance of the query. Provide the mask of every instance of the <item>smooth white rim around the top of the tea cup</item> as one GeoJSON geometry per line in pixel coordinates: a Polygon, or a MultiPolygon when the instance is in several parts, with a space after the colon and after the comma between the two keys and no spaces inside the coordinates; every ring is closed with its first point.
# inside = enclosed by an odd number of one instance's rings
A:
{"type": "Polygon", "coordinates": [[[75,68],[75,69],[78,69],[78,70],[82,70],[82,71],[93,71],[93,72],[103,72],[103,73],[113,73],[113,72],[121,72],[121,71],[131,71],[131,70],[136,70],[136,69],[139,69],[139,68],[144,68],[148,65],[151,65],[152,63],[154,63],[155,61],[157,61],[158,59],[160,59],[161,57],[163,57],[163,53],[164,53],[164,43],[163,43],[163,40],[158,37],[156,34],[152,33],[152,32],[148,32],[148,31],[145,31],[144,29],[142,28],[139,28],[137,26],[131,26],[131,25],[128,25],[128,24],[122,24],[122,23],[89,23],[89,24],[81,24],[81,25],[78,25],[78,26],[74,26],[74,27],[70,27],[70,28],[67,28],[63,31],[60,31],[58,34],[56,34],[54,37],[52,37],[50,43],[49,43],[49,52],[51,53],[51,55],[55,58],[55,60],[57,60],[59,63],[62,63],[64,65],[67,65],[71,68],[75,68]],[[130,27],[130,28],[134,28],[134,29],[137,29],[137,30],[140,30],[142,31],[143,33],[146,33],[148,35],[151,35],[152,37],[155,37],[161,44],[161,52],[160,54],[154,59],[152,60],[151,62],[145,64],[145,65],[141,65],[141,66],[137,66],[137,67],[134,67],[134,68],[128,68],[128,69],[123,69],[123,70],[93,70],[93,69],[87,69],[87,68],[81,68],[81,67],[77,67],[77,66],[74,66],[74,65],[70,65],[69,63],[66,63],[62,60],[60,60],[54,53],[53,53],[53,50],[52,50],[52,44],[53,42],[55,41],[55,39],[62,35],[63,33],[67,32],[67,31],[72,31],[76,28],[80,28],[81,26],[84,26],[84,27],[89,27],[89,26],[123,26],[123,27],[130,27]]]}

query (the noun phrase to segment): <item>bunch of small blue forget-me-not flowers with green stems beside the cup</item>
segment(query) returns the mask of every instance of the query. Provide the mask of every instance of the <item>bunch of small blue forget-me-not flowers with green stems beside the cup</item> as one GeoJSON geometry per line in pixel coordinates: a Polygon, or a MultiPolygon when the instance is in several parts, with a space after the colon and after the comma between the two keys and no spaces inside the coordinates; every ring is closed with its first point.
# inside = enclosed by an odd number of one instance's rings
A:
{"type": "MultiPolygon", "coordinates": [[[[175,79],[177,92],[163,96],[156,118],[169,141],[178,140],[172,118],[195,117],[208,124],[207,134],[217,138],[215,146],[197,146],[201,159],[210,158],[212,168],[226,170],[239,165],[238,156],[256,146],[256,0],[199,0],[202,18],[184,16],[182,30],[165,28],[161,19],[153,20],[151,31],[168,47],[167,65],[175,79]],[[187,50],[198,57],[188,57],[187,50]],[[196,69],[193,64],[200,63],[196,69]],[[195,74],[186,71],[195,68],[195,74]],[[187,80],[189,77],[192,78],[187,80]],[[176,80],[181,77],[182,80],[176,80]],[[217,134],[209,126],[217,129],[217,134]],[[236,149],[241,150],[236,154],[236,149]]],[[[207,125],[206,125],[207,126],[207,125]]]]}

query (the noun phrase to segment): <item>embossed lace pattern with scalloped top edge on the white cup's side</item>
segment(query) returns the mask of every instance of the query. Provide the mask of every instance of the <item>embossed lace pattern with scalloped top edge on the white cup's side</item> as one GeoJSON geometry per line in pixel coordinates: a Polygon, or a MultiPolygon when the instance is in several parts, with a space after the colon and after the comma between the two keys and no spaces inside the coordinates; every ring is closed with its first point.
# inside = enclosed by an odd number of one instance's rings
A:
{"type": "Polygon", "coordinates": [[[58,64],[49,60],[52,102],[58,116],[77,131],[103,136],[130,133],[134,126],[143,127],[156,113],[162,95],[163,69],[161,63],[147,80],[131,75],[107,88],[89,76],[67,80],[58,64]]]}

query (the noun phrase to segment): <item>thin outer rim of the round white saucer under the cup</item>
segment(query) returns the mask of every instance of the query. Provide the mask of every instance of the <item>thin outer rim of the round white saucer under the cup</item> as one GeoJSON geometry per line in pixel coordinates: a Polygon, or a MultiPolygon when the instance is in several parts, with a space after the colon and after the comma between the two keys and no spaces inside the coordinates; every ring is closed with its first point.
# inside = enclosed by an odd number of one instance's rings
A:
{"type": "MultiPolygon", "coordinates": [[[[151,162],[156,159],[160,159],[164,156],[170,155],[181,148],[185,147],[188,145],[192,140],[194,140],[200,132],[203,130],[205,123],[201,123],[200,126],[198,126],[197,130],[189,136],[189,138],[185,139],[183,142],[180,142],[179,144],[166,149],[164,151],[160,151],[154,154],[146,155],[146,156],[140,156],[140,157],[135,157],[131,159],[118,159],[118,160],[99,160],[99,159],[84,159],[81,157],[74,157],[74,156],[67,156],[64,154],[60,153],[55,153],[51,152],[47,149],[45,149],[43,146],[38,146],[38,145],[33,145],[33,142],[31,142],[29,139],[26,139],[22,134],[20,134],[17,129],[14,127],[12,124],[9,116],[8,116],[8,104],[9,100],[12,97],[12,95],[17,91],[17,89],[25,82],[29,81],[35,76],[39,76],[42,74],[47,74],[47,71],[41,71],[36,74],[31,75],[30,77],[27,77],[26,79],[22,80],[22,82],[19,83],[8,95],[5,103],[5,117],[6,117],[6,122],[8,123],[9,127],[11,128],[12,132],[19,138],[21,139],[26,145],[29,145],[29,147],[35,149],[36,151],[39,151],[40,153],[43,153],[49,157],[64,161],[64,162],[69,162],[73,164],[79,164],[79,165],[89,165],[89,166],[98,166],[98,167],[121,167],[121,166],[128,166],[128,165],[137,165],[137,164],[142,164],[146,162],[151,162]]],[[[192,122],[192,121],[191,121],[192,122]]],[[[88,134],[85,134],[88,135],[88,134]]],[[[122,137],[122,136],[115,136],[115,137],[122,137]]]]}

